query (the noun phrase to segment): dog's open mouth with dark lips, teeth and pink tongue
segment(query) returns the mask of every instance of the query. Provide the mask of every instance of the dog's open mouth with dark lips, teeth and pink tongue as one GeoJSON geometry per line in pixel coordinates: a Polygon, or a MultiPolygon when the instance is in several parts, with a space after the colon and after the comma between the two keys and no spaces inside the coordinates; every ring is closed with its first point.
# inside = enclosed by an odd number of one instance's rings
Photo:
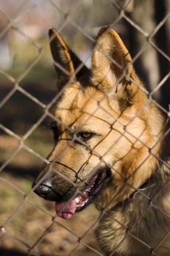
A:
{"type": "Polygon", "coordinates": [[[99,170],[97,174],[90,178],[82,192],[76,195],[71,201],[55,204],[55,211],[58,217],[70,219],[75,212],[82,211],[101,192],[101,189],[107,184],[109,178],[109,168],[99,170]]]}

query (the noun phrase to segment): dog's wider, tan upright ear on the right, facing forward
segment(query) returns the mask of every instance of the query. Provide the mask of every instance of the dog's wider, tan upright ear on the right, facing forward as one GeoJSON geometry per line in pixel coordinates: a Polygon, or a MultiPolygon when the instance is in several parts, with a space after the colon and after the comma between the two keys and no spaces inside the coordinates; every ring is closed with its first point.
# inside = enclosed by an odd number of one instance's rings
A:
{"type": "Polygon", "coordinates": [[[92,56],[92,81],[101,91],[116,91],[117,85],[139,83],[131,56],[114,29],[104,27],[98,33],[92,56]]]}

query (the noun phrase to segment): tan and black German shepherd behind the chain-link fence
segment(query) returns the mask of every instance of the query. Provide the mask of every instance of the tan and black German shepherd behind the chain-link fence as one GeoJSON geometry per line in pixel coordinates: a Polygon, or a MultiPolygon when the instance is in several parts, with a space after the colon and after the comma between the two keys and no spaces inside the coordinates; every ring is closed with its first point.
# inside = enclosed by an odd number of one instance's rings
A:
{"type": "Polygon", "coordinates": [[[55,201],[63,219],[95,203],[104,255],[169,256],[166,118],[136,75],[122,39],[112,28],[99,31],[92,70],[55,29],[50,48],[60,88],[52,124],[55,146],[34,191],[55,201]]]}

